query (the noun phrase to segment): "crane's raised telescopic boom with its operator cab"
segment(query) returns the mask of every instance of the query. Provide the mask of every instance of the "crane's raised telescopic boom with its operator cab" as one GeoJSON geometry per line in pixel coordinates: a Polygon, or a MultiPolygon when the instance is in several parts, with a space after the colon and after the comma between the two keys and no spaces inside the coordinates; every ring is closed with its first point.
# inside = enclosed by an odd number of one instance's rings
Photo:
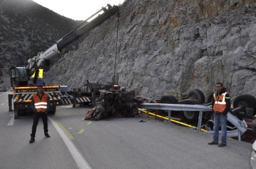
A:
{"type": "MultiPolygon", "coordinates": [[[[59,54],[62,49],[64,49],[67,45],[70,45],[76,39],[79,39],[82,35],[89,34],[91,30],[102,24],[104,21],[109,19],[112,15],[119,15],[119,7],[107,5],[106,7],[102,7],[98,12],[91,15],[86,21],[80,23],[80,25],[76,26],[74,30],[64,35],[61,39],[59,39],[54,45],[49,47],[44,52],[39,52],[38,55],[30,58],[27,61],[27,66],[25,67],[12,67],[10,68],[10,79],[11,86],[28,86],[32,85],[29,83],[30,76],[32,74],[38,74],[38,70],[41,66],[43,66],[43,61],[51,59],[56,54],[59,54]],[[100,12],[103,12],[100,14],[100,12]],[[97,15],[99,14],[99,15],[97,15]],[[96,16],[97,15],[97,16],[96,16]],[[90,21],[89,21],[90,20],[90,21]],[[25,70],[24,70],[25,69],[25,70]],[[22,74],[21,74],[22,72],[22,74]],[[27,77],[24,77],[24,72],[27,77]],[[22,78],[21,78],[22,77],[22,78]]],[[[34,85],[36,85],[35,79],[37,76],[34,76],[34,85]]]]}

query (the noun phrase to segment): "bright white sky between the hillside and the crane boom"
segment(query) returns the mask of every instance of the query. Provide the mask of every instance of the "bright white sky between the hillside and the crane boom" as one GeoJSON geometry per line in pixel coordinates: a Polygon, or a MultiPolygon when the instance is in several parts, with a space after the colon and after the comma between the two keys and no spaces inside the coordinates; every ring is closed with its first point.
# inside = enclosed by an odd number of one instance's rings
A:
{"type": "Polygon", "coordinates": [[[119,5],[124,0],[32,0],[41,6],[75,20],[86,20],[107,4],[119,5]]]}

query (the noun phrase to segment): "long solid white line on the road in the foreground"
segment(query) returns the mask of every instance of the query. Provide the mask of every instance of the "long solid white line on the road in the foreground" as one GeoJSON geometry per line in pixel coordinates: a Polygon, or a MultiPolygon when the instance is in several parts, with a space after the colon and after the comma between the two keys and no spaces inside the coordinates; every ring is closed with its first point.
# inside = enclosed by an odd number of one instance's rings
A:
{"type": "Polygon", "coordinates": [[[67,135],[64,134],[62,129],[58,126],[58,124],[55,123],[55,121],[51,118],[48,117],[49,121],[53,124],[54,128],[56,128],[57,132],[60,134],[62,137],[64,143],[66,144],[67,148],[69,149],[69,152],[73,156],[73,159],[75,160],[78,168],[80,169],[91,169],[91,166],[87,163],[86,159],[78,152],[75,144],[67,137],[67,135]]]}

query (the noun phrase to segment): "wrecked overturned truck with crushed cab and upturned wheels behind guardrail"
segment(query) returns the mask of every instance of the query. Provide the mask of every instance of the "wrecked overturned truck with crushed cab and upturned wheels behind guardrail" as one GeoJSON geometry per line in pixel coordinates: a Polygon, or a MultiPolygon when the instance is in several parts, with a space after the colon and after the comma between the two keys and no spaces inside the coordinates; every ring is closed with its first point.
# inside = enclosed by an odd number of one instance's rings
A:
{"type": "MultiPolygon", "coordinates": [[[[169,95],[163,95],[161,99],[150,99],[141,95],[135,96],[134,90],[120,90],[118,87],[110,88],[110,90],[99,90],[100,97],[96,100],[96,106],[89,110],[84,119],[100,120],[111,115],[122,115],[126,117],[134,117],[138,114],[139,103],[167,103],[167,104],[191,104],[191,105],[204,105],[211,106],[213,97],[210,94],[205,99],[203,92],[198,89],[191,90],[188,94],[178,92],[168,92],[169,95]],[[205,101],[206,100],[206,101],[205,101]]],[[[243,94],[236,97],[233,101],[233,108],[230,115],[235,117],[235,121],[244,121],[248,130],[244,135],[255,139],[256,135],[252,132],[252,121],[255,119],[256,114],[256,99],[255,97],[243,94]]],[[[156,115],[163,115],[164,117],[169,114],[168,110],[149,110],[156,115]]],[[[181,121],[189,124],[198,123],[200,119],[199,111],[170,111],[172,117],[178,117],[181,121]]],[[[229,116],[230,116],[229,115],[229,116]]],[[[233,120],[234,121],[234,120],[233,120]]],[[[213,130],[213,114],[211,111],[204,112],[202,117],[202,124],[208,131],[213,130]]],[[[227,124],[228,130],[233,130],[236,126],[233,123],[227,124]]]]}

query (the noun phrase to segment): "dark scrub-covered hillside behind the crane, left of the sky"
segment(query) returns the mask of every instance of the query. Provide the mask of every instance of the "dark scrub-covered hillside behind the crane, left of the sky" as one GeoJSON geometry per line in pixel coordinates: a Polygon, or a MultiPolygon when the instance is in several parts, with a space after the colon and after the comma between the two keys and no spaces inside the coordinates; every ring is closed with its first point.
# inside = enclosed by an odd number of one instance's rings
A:
{"type": "MultiPolygon", "coordinates": [[[[0,23],[1,80],[8,77],[11,65],[25,65],[29,58],[49,48],[80,21],[56,14],[32,0],[1,0],[0,23]]],[[[69,46],[69,50],[76,46],[77,43],[69,46]]]]}

